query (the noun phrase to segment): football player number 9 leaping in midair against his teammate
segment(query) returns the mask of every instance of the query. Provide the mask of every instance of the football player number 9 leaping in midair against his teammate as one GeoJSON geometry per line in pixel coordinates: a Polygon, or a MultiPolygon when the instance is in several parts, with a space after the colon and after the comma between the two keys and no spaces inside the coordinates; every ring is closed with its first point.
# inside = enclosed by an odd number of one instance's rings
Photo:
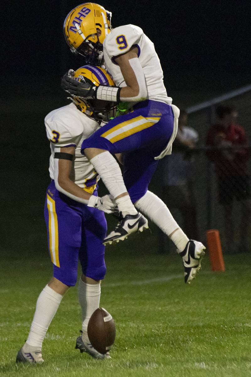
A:
{"type": "Polygon", "coordinates": [[[112,29],[111,13],[94,3],[70,11],[64,34],[71,51],[99,66],[105,64],[116,86],[93,86],[73,80],[68,72],[62,78],[62,88],[79,97],[127,103],[124,115],[110,120],[81,147],[120,211],[119,224],[104,244],[147,228],[139,210],[174,242],[183,259],[185,282],[190,283],[200,268],[205,247],[189,240],[163,201],[148,191],[158,160],[171,153],[179,116],[179,109],[167,96],[154,44],[138,26],[112,29]],[[116,153],[123,155],[123,176],[112,156],[116,153]]]}

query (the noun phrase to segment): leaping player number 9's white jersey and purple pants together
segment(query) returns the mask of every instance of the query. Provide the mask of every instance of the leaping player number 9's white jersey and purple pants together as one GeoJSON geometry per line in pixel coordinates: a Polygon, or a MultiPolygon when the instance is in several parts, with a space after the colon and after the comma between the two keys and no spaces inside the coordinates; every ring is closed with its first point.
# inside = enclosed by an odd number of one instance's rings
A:
{"type": "Polygon", "coordinates": [[[110,120],[82,143],[85,148],[99,148],[110,153],[123,153],[123,179],[133,203],[145,195],[158,159],[170,154],[178,127],[179,109],[167,97],[163,71],[154,44],[134,25],[119,26],[106,35],[103,42],[105,67],[116,86],[126,83],[114,58],[137,48],[143,69],[147,99],[128,103],[128,114],[110,120]]]}

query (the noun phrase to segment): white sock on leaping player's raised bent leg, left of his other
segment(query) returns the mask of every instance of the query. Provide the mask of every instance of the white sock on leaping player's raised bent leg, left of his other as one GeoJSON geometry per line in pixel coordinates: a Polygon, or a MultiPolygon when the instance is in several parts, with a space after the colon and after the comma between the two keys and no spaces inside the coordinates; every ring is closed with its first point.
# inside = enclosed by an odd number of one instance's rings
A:
{"type": "MultiPolygon", "coordinates": [[[[99,173],[107,190],[114,199],[121,194],[127,193],[119,164],[111,153],[108,151],[100,153],[99,155],[90,159],[90,162],[94,166],[96,172],[99,173]]],[[[122,212],[123,216],[127,215],[128,213],[135,215],[135,207],[132,204],[129,195],[127,199],[128,201],[125,204],[125,208],[127,208],[126,211],[123,209],[123,204],[120,204],[122,209],[119,208],[119,211],[122,212]]]]}

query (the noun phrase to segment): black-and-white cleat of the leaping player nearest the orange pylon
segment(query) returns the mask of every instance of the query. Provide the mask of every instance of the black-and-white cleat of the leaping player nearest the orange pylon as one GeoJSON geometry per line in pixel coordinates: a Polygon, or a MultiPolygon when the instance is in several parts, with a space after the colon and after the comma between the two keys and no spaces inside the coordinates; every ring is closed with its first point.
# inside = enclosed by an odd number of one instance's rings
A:
{"type": "Polygon", "coordinates": [[[200,270],[204,250],[205,246],[201,242],[190,239],[185,249],[179,253],[185,269],[185,283],[190,284],[200,270]]]}

